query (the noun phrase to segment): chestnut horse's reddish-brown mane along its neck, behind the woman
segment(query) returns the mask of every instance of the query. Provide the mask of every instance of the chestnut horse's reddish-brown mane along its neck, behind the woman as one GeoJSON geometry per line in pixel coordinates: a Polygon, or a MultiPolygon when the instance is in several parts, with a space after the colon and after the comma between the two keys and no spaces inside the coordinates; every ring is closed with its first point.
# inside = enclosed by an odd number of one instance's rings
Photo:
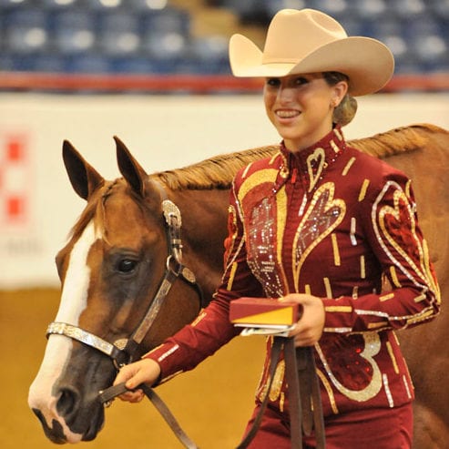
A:
{"type": "MultiPolygon", "coordinates": [[[[434,125],[419,124],[394,128],[369,138],[350,140],[348,143],[376,158],[389,158],[423,148],[431,134],[442,131],[443,128],[434,125]]],[[[151,176],[173,190],[229,189],[237,170],[256,159],[271,157],[279,148],[279,145],[269,145],[222,154],[188,167],[162,171],[151,176]]]]}

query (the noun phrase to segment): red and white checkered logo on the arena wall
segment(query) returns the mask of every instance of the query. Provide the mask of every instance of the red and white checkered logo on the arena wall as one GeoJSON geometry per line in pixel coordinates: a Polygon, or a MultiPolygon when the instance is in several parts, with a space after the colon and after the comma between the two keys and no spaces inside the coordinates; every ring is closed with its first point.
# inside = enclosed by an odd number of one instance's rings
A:
{"type": "Polygon", "coordinates": [[[0,223],[23,225],[29,219],[29,158],[23,135],[0,137],[0,223]]]}

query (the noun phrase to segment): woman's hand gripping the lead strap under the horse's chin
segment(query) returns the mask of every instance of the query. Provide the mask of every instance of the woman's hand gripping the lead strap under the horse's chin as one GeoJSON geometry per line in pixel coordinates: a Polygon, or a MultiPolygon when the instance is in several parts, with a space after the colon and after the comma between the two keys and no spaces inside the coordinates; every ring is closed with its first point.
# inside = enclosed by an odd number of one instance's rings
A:
{"type": "MultiPolygon", "coordinates": [[[[129,390],[134,390],[140,383],[155,383],[160,375],[158,362],[151,359],[141,359],[138,362],[129,363],[123,366],[117,374],[114,385],[125,383],[129,390]]],[[[118,396],[122,401],[129,403],[139,403],[144,393],[142,390],[129,391],[118,396]]]]}

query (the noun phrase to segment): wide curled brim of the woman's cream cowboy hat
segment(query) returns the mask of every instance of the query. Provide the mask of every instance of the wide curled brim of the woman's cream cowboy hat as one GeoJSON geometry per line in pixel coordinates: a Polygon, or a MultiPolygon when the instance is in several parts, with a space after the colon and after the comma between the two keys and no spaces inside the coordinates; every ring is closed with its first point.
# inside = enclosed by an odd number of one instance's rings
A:
{"type": "Polygon", "coordinates": [[[230,38],[230,66],[236,77],[285,77],[292,74],[341,72],[349,77],[353,97],[378,91],[393,75],[394,59],[382,42],[352,36],[335,40],[298,60],[265,60],[260,48],[242,35],[230,38]]]}

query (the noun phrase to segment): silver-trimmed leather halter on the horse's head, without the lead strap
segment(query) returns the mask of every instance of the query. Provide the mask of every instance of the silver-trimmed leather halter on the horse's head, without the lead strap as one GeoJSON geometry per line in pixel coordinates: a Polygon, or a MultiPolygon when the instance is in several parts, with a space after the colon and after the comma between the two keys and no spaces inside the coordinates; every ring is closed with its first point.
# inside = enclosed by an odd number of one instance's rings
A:
{"type": "MultiPolygon", "coordinates": [[[[158,186],[158,184],[156,184],[158,186]]],[[[132,332],[128,339],[120,339],[110,343],[97,335],[87,332],[73,324],[53,321],[48,325],[46,336],[64,335],[68,338],[82,342],[87,346],[103,352],[110,357],[117,369],[132,362],[139,344],[143,341],[158,316],[158,312],[167,298],[173,283],[177,279],[187,282],[199,295],[200,307],[203,304],[202,291],[195,279],[194,273],[182,263],[182,240],[180,230],[182,226],[181,214],[178,206],[167,198],[165,190],[158,186],[162,197],[162,211],[167,225],[168,257],[166,269],[158,291],[150,302],[148,311],[138,324],[138,328],[132,332]]]]}

